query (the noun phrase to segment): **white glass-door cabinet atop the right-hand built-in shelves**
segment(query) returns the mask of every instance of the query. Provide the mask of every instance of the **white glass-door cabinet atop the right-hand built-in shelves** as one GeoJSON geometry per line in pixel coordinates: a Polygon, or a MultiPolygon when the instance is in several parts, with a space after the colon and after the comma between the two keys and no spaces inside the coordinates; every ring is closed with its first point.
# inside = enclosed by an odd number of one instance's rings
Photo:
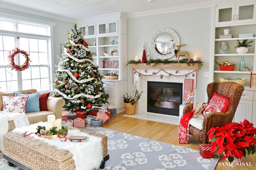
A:
{"type": "Polygon", "coordinates": [[[216,26],[256,21],[256,2],[216,7],[216,26]]]}

